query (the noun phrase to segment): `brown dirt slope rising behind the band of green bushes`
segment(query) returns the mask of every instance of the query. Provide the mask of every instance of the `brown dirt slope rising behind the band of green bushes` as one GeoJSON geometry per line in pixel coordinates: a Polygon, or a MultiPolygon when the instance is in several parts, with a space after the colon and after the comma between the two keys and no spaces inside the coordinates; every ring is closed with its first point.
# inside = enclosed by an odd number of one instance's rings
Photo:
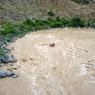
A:
{"type": "Polygon", "coordinates": [[[88,5],[82,5],[71,0],[0,0],[0,20],[47,18],[47,12],[50,10],[56,16],[79,15],[83,18],[95,19],[95,1],[90,2],[88,5]]]}

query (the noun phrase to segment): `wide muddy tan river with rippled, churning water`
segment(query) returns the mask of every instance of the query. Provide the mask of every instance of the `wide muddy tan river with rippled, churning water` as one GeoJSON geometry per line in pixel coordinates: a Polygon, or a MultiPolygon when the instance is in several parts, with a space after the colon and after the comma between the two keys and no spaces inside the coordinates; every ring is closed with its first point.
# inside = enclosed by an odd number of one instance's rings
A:
{"type": "Polygon", "coordinates": [[[33,32],[9,47],[19,76],[0,80],[0,95],[95,95],[94,29],[33,32]]]}

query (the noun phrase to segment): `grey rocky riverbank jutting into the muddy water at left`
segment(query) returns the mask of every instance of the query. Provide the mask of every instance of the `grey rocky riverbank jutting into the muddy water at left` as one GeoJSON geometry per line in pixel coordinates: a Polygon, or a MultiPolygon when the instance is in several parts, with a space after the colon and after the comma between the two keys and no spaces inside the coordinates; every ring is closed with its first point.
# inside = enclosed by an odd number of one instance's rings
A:
{"type": "Polygon", "coordinates": [[[13,67],[14,63],[17,62],[17,59],[11,54],[13,48],[8,48],[7,45],[8,43],[5,43],[3,39],[0,41],[0,78],[16,78],[17,75],[14,70],[10,68],[4,69],[6,65],[13,67]]]}

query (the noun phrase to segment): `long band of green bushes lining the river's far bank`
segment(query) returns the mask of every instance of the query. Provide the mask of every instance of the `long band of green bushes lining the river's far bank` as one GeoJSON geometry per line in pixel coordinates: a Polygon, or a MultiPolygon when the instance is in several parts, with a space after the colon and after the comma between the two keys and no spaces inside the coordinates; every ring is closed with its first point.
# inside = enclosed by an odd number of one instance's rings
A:
{"type": "MultiPolygon", "coordinates": [[[[73,18],[48,18],[46,20],[31,20],[26,19],[21,23],[2,23],[0,27],[0,38],[3,38],[3,43],[11,42],[15,38],[24,36],[26,33],[48,29],[48,28],[63,28],[63,27],[91,27],[95,28],[95,20],[86,21],[79,17],[73,18]]],[[[2,42],[2,41],[1,41],[2,42]]],[[[6,57],[6,50],[0,44],[0,58],[6,57]]]]}

